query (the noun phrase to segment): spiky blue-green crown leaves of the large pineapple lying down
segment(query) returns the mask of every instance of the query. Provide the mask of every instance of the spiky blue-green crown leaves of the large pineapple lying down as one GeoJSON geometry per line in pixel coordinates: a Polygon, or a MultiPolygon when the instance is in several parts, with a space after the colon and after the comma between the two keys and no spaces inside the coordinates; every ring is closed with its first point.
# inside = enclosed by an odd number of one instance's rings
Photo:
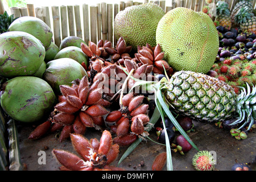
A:
{"type": "Polygon", "coordinates": [[[245,88],[241,87],[241,94],[237,96],[237,120],[230,124],[236,125],[244,121],[242,126],[238,130],[240,130],[243,126],[247,125],[248,123],[249,127],[247,130],[250,130],[256,118],[256,87],[253,86],[252,89],[250,89],[249,84],[246,83],[246,85],[247,91],[245,88]]]}

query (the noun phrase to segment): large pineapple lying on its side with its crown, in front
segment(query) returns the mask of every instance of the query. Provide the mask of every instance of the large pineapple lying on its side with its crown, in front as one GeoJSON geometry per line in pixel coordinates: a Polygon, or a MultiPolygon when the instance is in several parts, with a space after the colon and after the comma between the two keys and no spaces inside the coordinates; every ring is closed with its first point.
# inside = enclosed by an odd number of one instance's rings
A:
{"type": "Polygon", "coordinates": [[[256,87],[251,90],[247,85],[247,93],[243,88],[237,96],[232,86],[224,81],[191,71],[174,73],[161,89],[177,113],[199,121],[224,121],[237,117],[234,123],[244,122],[241,127],[250,123],[249,128],[256,118],[256,87]]]}

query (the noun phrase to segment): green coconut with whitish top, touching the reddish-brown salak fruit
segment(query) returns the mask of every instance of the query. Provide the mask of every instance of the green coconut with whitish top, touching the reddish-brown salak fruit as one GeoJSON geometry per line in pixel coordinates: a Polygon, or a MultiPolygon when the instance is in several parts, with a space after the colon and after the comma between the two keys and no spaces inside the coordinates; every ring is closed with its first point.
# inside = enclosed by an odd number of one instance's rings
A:
{"type": "Polygon", "coordinates": [[[85,69],[77,61],[70,58],[60,58],[49,61],[43,79],[51,85],[55,94],[60,95],[60,85],[72,85],[72,81],[87,76],[85,69]]]}

